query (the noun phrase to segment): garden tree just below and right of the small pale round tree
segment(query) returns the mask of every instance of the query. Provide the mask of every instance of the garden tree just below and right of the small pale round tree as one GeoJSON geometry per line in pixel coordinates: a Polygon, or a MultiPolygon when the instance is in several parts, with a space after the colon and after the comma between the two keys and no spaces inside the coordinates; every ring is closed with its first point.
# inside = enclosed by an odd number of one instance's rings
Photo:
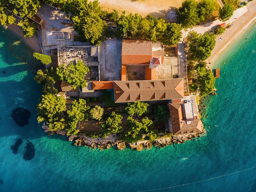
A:
{"type": "Polygon", "coordinates": [[[119,133],[123,130],[121,125],[123,117],[120,114],[112,112],[108,118],[101,124],[101,129],[103,133],[119,133]]]}

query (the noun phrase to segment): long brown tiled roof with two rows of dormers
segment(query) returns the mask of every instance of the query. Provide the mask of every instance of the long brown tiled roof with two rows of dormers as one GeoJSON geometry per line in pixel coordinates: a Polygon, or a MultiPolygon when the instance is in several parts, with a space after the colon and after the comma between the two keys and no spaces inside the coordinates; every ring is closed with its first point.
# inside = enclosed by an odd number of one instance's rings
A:
{"type": "Polygon", "coordinates": [[[114,81],[115,103],[183,98],[183,78],[114,81]]]}

